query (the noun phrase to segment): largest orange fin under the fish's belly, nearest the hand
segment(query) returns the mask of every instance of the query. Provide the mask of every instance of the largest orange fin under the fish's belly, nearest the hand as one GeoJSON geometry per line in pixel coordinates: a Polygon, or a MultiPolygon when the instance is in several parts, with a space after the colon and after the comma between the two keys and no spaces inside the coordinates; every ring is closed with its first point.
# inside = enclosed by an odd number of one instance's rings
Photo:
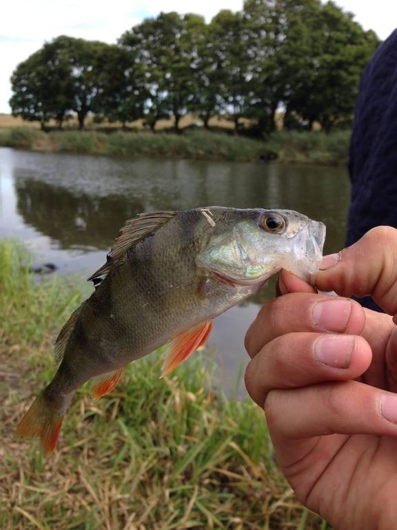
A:
{"type": "Polygon", "coordinates": [[[199,346],[204,344],[209,337],[214,322],[207,320],[201,322],[199,326],[190,329],[189,331],[183,331],[174,337],[170,346],[168,346],[165,352],[165,359],[163,362],[163,371],[160,377],[168,375],[176,366],[185,361],[199,346]]]}

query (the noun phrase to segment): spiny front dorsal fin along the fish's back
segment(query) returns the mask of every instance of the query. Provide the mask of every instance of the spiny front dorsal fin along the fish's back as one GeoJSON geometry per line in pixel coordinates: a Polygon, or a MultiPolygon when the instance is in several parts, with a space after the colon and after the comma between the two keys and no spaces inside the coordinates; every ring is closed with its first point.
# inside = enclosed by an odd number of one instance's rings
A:
{"type": "Polygon", "coordinates": [[[147,212],[140,213],[134,219],[129,219],[125,226],[121,228],[119,236],[106,257],[106,263],[92,274],[88,281],[94,282],[96,280],[97,286],[129,248],[136,245],[147,235],[156,232],[160,226],[163,226],[178,213],[178,211],[147,212]]]}

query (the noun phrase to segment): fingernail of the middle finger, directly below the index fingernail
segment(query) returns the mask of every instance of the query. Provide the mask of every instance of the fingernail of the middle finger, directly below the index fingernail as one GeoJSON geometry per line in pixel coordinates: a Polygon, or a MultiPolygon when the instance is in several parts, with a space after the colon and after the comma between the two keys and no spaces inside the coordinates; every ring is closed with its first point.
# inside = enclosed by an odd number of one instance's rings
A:
{"type": "Polygon", "coordinates": [[[327,366],[346,369],[350,364],[353,346],[354,337],[348,335],[320,337],[314,343],[314,354],[327,366]]]}

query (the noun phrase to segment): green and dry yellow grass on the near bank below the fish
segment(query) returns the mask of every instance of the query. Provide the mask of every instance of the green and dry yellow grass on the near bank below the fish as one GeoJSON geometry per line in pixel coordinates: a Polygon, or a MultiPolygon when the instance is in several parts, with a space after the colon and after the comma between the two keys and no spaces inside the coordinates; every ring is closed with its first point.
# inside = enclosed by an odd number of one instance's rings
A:
{"type": "Polygon", "coordinates": [[[132,363],[99,402],[81,389],[50,459],[13,440],[81,291],[38,282],[26,249],[8,241],[0,291],[1,529],[325,529],[278,470],[263,413],[216,397],[199,355],[164,380],[159,354],[132,363]]]}

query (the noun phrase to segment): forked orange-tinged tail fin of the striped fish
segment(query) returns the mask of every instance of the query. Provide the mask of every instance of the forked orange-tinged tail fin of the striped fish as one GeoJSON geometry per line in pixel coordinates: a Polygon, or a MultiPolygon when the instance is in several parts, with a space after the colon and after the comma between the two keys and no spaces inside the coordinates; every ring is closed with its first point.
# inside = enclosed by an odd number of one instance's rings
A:
{"type": "Polygon", "coordinates": [[[54,451],[65,415],[50,408],[43,392],[34,400],[17,426],[18,438],[40,438],[46,455],[54,451]]]}

